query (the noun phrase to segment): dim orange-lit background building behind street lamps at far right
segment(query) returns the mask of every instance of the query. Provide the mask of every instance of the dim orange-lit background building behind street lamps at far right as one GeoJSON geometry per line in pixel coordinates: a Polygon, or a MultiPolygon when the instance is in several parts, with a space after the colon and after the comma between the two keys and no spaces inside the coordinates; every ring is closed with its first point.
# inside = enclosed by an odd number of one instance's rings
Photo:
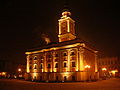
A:
{"type": "Polygon", "coordinates": [[[98,59],[98,70],[100,77],[120,77],[119,57],[104,57],[98,59]]]}

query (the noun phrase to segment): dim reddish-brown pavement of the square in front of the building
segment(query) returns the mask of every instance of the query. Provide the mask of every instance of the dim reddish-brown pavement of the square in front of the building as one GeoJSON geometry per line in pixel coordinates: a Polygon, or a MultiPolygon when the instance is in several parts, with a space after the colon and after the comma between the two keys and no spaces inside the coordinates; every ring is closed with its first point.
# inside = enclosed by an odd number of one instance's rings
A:
{"type": "Polygon", "coordinates": [[[0,90],[120,90],[120,79],[96,82],[38,83],[16,79],[0,79],[0,90]]]}

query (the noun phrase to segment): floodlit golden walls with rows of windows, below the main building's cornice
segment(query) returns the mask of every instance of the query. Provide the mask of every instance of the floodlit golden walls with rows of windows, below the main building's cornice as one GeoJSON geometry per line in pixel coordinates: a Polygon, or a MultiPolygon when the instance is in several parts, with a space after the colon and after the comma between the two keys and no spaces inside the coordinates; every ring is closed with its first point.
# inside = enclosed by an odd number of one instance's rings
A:
{"type": "Polygon", "coordinates": [[[27,73],[31,79],[41,81],[95,79],[95,55],[79,46],[30,54],[27,56],[27,73]],[[85,65],[91,68],[86,71],[85,65]]]}

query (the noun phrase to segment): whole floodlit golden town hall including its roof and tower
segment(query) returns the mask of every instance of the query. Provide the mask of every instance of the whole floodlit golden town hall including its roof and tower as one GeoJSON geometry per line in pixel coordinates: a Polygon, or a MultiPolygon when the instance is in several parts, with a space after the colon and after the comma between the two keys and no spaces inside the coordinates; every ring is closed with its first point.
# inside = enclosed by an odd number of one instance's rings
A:
{"type": "Polygon", "coordinates": [[[97,51],[75,36],[75,21],[64,11],[59,21],[59,42],[26,52],[26,79],[38,81],[96,80],[97,51]]]}

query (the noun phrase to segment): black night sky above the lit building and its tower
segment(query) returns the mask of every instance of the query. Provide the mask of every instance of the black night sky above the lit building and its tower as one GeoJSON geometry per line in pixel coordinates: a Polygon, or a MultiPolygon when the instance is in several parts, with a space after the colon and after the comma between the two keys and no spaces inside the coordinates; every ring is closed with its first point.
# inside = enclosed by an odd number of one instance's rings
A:
{"type": "MultiPolygon", "coordinates": [[[[68,0],[76,34],[104,55],[120,53],[120,5],[117,0],[68,0]]],[[[25,51],[42,46],[41,34],[57,41],[64,0],[0,1],[0,59],[26,62],[25,51]]]]}

